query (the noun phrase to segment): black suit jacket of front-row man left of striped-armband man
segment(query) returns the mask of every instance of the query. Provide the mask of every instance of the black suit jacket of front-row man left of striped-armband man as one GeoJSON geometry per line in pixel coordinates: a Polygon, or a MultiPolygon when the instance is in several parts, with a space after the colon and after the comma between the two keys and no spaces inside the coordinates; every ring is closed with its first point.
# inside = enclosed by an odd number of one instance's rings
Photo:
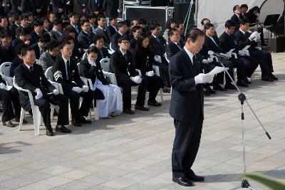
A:
{"type": "MultiPolygon", "coordinates": [[[[48,82],[46,76],[43,73],[43,68],[41,65],[33,64],[33,73],[26,67],[25,63],[21,63],[14,70],[16,83],[19,87],[31,90],[33,96],[36,95],[36,88],[39,88],[43,95],[47,93],[52,93],[54,89],[53,85],[48,82]]],[[[21,106],[24,110],[31,110],[30,100],[28,98],[28,93],[19,92],[21,106]]]]}

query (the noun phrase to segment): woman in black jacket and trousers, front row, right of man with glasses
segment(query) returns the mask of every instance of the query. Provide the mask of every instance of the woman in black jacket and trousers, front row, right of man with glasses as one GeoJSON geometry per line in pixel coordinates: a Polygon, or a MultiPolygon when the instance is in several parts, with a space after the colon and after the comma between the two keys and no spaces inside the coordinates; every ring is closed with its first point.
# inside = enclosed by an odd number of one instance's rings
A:
{"type": "Polygon", "coordinates": [[[155,62],[155,55],[148,48],[148,43],[148,36],[142,33],[133,51],[133,63],[135,63],[135,68],[140,70],[142,78],[147,78],[147,91],[150,92],[150,97],[147,101],[148,105],[157,107],[161,104],[155,100],[155,97],[160,88],[163,88],[165,84],[162,78],[155,75],[152,69],[152,63],[155,62]]]}

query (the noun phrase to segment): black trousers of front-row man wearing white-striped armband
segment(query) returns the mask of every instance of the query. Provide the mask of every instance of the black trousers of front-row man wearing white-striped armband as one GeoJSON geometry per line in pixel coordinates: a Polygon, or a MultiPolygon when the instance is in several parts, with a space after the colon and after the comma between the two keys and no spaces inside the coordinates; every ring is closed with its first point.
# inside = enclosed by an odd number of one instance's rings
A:
{"type": "Polygon", "coordinates": [[[92,101],[94,100],[94,92],[92,90],[89,89],[87,93],[81,92],[79,94],[73,90],[63,90],[63,93],[71,100],[71,115],[73,119],[80,119],[81,116],[88,116],[92,101]],[[80,97],[83,97],[83,101],[79,108],[80,97]]]}

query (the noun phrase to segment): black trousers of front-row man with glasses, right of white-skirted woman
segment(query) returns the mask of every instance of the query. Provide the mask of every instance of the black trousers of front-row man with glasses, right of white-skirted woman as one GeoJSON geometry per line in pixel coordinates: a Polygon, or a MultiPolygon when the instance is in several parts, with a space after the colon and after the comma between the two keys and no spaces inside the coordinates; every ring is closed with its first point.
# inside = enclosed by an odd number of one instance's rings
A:
{"type": "Polygon", "coordinates": [[[147,78],[142,78],[142,83],[134,83],[130,78],[117,78],[120,88],[123,88],[123,108],[130,109],[132,101],[132,86],[138,86],[138,97],[136,105],[145,104],[145,93],[147,91],[147,78]]]}

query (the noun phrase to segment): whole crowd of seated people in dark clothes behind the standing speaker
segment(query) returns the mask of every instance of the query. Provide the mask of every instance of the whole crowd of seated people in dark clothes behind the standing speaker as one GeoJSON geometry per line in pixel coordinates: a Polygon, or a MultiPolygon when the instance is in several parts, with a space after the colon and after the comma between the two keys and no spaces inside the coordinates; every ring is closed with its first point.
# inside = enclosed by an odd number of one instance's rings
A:
{"type": "MultiPolygon", "coordinates": [[[[169,60],[184,48],[185,29],[189,31],[196,26],[185,28],[180,21],[170,19],[165,31],[161,31],[165,23],[155,20],[118,21],[118,11],[113,11],[118,4],[111,4],[111,1],[88,3],[84,7],[55,2],[51,1],[48,14],[43,9],[46,7],[34,4],[1,10],[0,18],[0,63],[11,62],[9,77],[14,77],[19,87],[31,91],[48,136],[53,136],[51,104],[60,107],[55,130],[64,133],[71,132],[68,104],[71,125],[77,127],[91,123],[86,119],[91,105],[99,107],[97,114],[101,118],[109,119],[122,112],[134,114],[132,86],[138,88],[135,110],[150,110],[145,102],[154,107],[162,105],[156,97],[161,88],[163,93],[170,93],[169,60]],[[109,70],[103,70],[100,63],[106,58],[109,70]],[[153,65],[160,68],[159,74],[155,73],[153,65]],[[51,78],[45,75],[48,69],[51,78]],[[106,73],[113,73],[117,83],[110,83],[106,73]],[[92,85],[84,83],[81,77],[90,78],[92,85]],[[51,80],[60,84],[63,92],[54,88],[51,80]],[[145,100],[147,92],[150,94],[145,100]]],[[[221,60],[209,55],[209,51],[228,56],[234,49],[230,56],[222,57],[222,63],[229,68],[232,78],[234,69],[237,70],[236,84],[245,88],[251,84],[248,78],[258,65],[261,80],[278,80],[273,75],[271,53],[258,47],[259,41],[266,45],[262,33],[249,31],[249,25],[258,22],[259,9],[252,8],[249,12],[247,9],[247,5],[234,6],[234,15],[225,21],[221,36],[209,19],[202,19],[205,41],[196,56],[200,69],[208,73],[221,66],[221,60]],[[250,47],[243,50],[246,46],[250,47]]],[[[15,127],[13,122],[20,120],[19,107],[31,114],[31,105],[26,93],[16,88],[7,90],[6,86],[6,81],[0,78],[2,122],[4,126],[15,127]]],[[[235,90],[228,75],[224,81],[224,74],[219,73],[211,84],[204,85],[205,95],[215,94],[217,90],[235,90]]]]}

